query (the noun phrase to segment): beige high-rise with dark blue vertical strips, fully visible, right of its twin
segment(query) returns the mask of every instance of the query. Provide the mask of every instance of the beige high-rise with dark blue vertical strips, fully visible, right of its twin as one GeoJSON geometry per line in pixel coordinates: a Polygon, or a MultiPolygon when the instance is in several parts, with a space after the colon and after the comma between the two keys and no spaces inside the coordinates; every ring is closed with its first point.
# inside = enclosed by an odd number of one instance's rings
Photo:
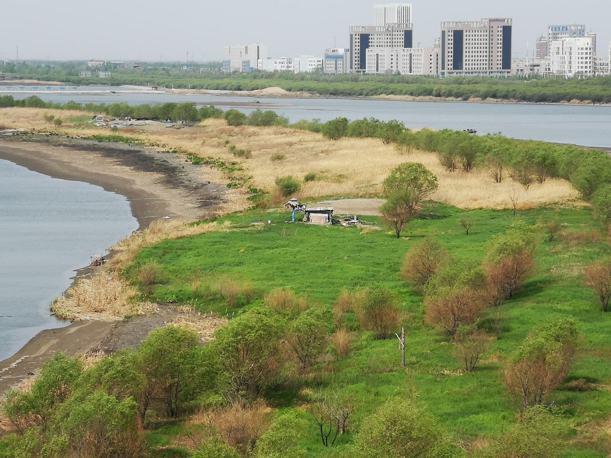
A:
{"type": "Polygon", "coordinates": [[[441,76],[509,76],[511,18],[441,23],[441,76]]]}

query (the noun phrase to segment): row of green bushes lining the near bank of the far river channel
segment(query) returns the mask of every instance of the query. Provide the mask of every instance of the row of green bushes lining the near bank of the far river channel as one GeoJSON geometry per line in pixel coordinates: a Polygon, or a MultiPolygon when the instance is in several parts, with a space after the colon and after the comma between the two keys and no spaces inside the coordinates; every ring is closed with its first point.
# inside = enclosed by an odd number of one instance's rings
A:
{"type": "Polygon", "coordinates": [[[563,178],[573,184],[582,196],[590,200],[599,219],[611,221],[611,157],[606,151],[589,150],[572,145],[555,145],[532,140],[514,140],[500,134],[477,136],[463,131],[444,129],[412,131],[396,120],[383,122],[364,118],[350,122],[340,117],[326,123],[318,119],[301,120],[292,125],[286,117],[273,111],[255,110],[249,115],[236,109],[222,111],[214,106],[197,109],[195,103],[164,103],[131,106],[126,103],[65,104],[45,102],[38,96],[15,100],[0,96],[0,107],[37,107],[104,113],[112,117],[171,119],[197,122],[207,118],[224,118],[231,126],[290,126],[323,134],[332,140],[342,137],[373,137],[386,144],[395,144],[402,154],[413,149],[434,151],[448,170],[465,172],[475,167],[486,168],[491,178],[510,178],[528,189],[531,183],[543,183],[547,178],[563,178]]]}

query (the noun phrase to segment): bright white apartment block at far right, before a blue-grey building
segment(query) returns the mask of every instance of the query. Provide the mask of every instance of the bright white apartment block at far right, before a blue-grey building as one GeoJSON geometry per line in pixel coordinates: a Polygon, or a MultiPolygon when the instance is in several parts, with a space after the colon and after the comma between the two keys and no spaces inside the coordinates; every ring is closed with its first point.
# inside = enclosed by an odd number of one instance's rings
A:
{"type": "Polygon", "coordinates": [[[549,43],[549,57],[542,62],[546,76],[593,76],[595,51],[592,37],[565,38],[549,43]]]}

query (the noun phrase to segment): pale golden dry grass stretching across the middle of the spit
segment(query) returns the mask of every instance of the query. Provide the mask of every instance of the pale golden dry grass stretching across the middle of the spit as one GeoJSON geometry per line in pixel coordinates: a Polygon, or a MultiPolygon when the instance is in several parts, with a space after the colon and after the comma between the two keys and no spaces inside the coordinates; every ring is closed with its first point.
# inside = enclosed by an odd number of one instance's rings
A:
{"type": "MultiPolygon", "coordinates": [[[[65,118],[83,113],[25,108],[0,109],[0,125],[48,131],[49,123],[43,118],[45,114],[65,118]]],[[[57,130],[78,136],[108,133],[102,129],[74,126],[62,126],[57,130]]],[[[320,134],[279,126],[232,127],[220,119],[205,120],[189,129],[142,126],[122,129],[121,134],[143,140],[160,150],[177,149],[202,158],[235,161],[232,152],[225,146],[225,141],[231,139],[232,145],[252,152],[251,158],[242,161],[246,169],[242,175],[252,176],[252,185],[255,187],[273,192],[274,182],[279,176],[293,175],[303,181],[305,175],[315,173],[316,180],[304,182],[296,196],[303,200],[330,195],[378,195],[381,192],[382,180],[390,170],[406,161],[421,162],[437,175],[439,190],[432,196],[433,200],[459,208],[511,208],[509,194],[516,186],[510,179],[494,183],[487,170],[448,172],[441,167],[435,153],[413,151],[401,154],[393,145],[384,145],[379,139],[345,138],[335,142],[324,139],[320,134]],[[272,161],[274,154],[284,154],[285,159],[272,161]]],[[[232,181],[230,174],[219,171],[206,173],[217,173],[215,182],[232,181]]],[[[233,209],[249,205],[243,192],[230,192],[227,197],[231,200],[230,207],[233,209]]],[[[528,191],[521,192],[518,208],[528,209],[577,198],[578,193],[568,181],[546,180],[543,184],[532,184],[528,191]]]]}

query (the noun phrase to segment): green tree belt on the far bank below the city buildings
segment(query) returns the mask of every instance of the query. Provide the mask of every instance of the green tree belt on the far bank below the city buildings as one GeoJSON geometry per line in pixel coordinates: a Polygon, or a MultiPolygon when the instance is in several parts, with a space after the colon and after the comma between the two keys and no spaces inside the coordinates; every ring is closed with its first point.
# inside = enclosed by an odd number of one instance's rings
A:
{"type": "Polygon", "coordinates": [[[224,75],[171,68],[122,68],[112,71],[110,78],[81,78],[75,65],[56,67],[18,65],[10,70],[34,79],[55,79],[73,84],[98,85],[158,85],[184,89],[257,90],[281,87],[290,92],[314,92],[329,96],[406,95],[437,98],[488,98],[527,102],[556,103],[561,101],[591,101],[611,103],[611,76],[585,79],[554,78],[483,78],[451,77],[445,79],[402,75],[325,75],[321,73],[263,73],[224,75]]]}

